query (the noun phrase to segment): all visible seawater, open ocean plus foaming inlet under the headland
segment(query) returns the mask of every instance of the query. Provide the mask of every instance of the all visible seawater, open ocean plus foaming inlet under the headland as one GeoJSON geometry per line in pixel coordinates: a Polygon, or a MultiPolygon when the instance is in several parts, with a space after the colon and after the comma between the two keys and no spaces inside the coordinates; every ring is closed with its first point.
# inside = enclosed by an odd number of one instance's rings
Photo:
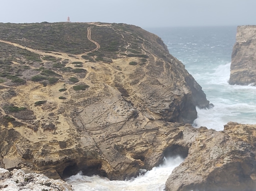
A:
{"type": "MultiPolygon", "coordinates": [[[[211,109],[198,109],[195,127],[221,131],[229,121],[256,124],[256,87],[230,86],[230,63],[236,42],[236,26],[172,27],[146,29],[162,38],[170,54],[180,60],[202,86],[211,109]]],[[[183,159],[164,159],[163,164],[137,178],[110,181],[81,174],[68,178],[75,191],[163,191],[172,170],[183,159]]]]}

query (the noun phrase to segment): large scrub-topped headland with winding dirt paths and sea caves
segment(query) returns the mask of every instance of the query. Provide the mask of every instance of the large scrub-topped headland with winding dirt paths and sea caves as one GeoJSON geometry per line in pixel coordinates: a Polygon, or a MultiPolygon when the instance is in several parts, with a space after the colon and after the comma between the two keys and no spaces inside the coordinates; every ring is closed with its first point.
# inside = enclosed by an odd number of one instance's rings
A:
{"type": "Polygon", "coordinates": [[[209,107],[163,41],[136,26],[0,23],[0,50],[9,170],[123,180],[157,165],[195,106],[209,107]]]}

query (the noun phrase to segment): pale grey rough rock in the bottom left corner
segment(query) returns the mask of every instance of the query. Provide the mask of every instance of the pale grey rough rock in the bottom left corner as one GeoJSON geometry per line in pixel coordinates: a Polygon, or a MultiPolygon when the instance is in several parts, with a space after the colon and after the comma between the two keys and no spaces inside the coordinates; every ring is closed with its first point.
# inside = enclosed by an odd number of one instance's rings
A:
{"type": "Polygon", "coordinates": [[[62,180],[49,179],[43,174],[25,174],[22,170],[14,169],[9,172],[0,168],[1,191],[73,191],[72,186],[62,180]]]}

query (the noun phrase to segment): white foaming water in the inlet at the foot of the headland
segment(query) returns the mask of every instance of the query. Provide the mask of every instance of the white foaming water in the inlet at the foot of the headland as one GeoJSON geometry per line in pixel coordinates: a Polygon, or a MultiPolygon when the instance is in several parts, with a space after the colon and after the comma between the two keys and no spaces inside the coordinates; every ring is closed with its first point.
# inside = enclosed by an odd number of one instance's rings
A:
{"type": "Polygon", "coordinates": [[[96,175],[87,177],[77,174],[66,181],[73,185],[75,191],[164,191],[166,180],[181,162],[181,157],[165,158],[162,165],[132,180],[110,181],[96,175]]]}

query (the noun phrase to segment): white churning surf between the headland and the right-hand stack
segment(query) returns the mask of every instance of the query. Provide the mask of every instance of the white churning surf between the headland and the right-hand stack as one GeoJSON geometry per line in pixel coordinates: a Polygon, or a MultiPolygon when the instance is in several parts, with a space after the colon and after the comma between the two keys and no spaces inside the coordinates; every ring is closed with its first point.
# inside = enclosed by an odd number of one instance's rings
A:
{"type": "Polygon", "coordinates": [[[231,86],[229,77],[230,63],[219,65],[212,73],[195,75],[207,99],[215,105],[208,110],[197,108],[195,126],[221,131],[229,121],[256,124],[256,87],[231,86]]]}

